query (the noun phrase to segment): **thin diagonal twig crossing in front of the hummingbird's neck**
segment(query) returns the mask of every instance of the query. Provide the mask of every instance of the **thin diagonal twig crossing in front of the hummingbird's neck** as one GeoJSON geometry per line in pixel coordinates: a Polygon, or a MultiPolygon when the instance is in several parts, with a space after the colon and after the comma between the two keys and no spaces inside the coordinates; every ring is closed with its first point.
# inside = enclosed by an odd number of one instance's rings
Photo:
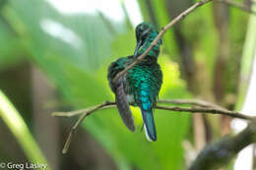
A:
{"type": "Polygon", "coordinates": [[[137,63],[139,63],[140,61],[142,61],[147,54],[150,52],[150,50],[158,43],[158,41],[160,40],[161,36],[163,35],[163,33],[168,29],[171,28],[173,25],[175,25],[176,23],[178,23],[179,21],[181,21],[182,19],[184,19],[187,15],[189,15],[191,12],[193,12],[195,9],[197,9],[198,7],[211,2],[212,0],[204,0],[204,1],[199,1],[197,3],[195,3],[194,5],[192,5],[191,7],[189,7],[187,10],[185,10],[183,13],[181,13],[180,15],[178,15],[175,19],[173,19],[169,24],[167,24],[164,28],[161,28],[160,33],[158,34],[158,36],[155,38],[155,40],[151,43],[151,45],[149,46],[149,48],[142,54],[140,55],[133,63],[131,63],[129,66],[127,66],[122,72],[119,72],[115,78],[113,79],[113,82],[116,82],[121,76],[123,76],[126,72],[128,72],[133,66],[135,66],[137,63]]]}

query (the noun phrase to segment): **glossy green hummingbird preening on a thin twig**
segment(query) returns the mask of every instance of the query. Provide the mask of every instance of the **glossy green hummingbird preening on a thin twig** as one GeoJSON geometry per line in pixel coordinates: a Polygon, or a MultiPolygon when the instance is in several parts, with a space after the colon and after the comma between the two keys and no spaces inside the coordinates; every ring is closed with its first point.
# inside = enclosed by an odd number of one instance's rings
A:
{"type": "Polygon", "coordinates": [[[157,105],[162,84],[162,73],[158,64],[161,39],[142,61],[121,76],[119,80],[113,82],[115,76],[143,54],[159,34],[157,28],[150,23],[138,25],[135,28],[135,33],[137,45],[134,55],[121,57],[112,62],[108,67],[107,79],[115,94],[117,109],[126,127],[132,132],[135,131],[130,104],[139,106],[146,137],[149,141],[156,142],[157,133],[153,109],[157,105]]]}

